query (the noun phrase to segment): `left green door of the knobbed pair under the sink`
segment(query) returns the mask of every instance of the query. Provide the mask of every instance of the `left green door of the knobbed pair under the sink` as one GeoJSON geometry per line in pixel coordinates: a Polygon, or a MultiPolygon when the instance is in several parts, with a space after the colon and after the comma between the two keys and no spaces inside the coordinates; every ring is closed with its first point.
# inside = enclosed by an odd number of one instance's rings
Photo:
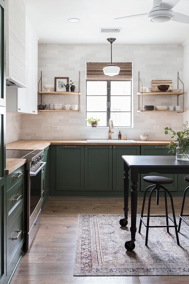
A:
{"type": "Polygon", "coordinates": [[[112,190],[112,146],[85,146],[85,190],[112,190]]]}

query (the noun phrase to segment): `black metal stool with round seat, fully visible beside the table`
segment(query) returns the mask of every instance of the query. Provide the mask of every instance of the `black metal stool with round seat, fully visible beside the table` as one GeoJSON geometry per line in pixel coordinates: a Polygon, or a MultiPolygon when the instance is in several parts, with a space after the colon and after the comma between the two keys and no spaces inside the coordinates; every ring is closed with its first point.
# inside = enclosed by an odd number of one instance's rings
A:
{"type": "Polygon", "coordinates": [[[142,223],[145,225],[146,227],[146,242],[145,242],[145,246],[147,246],[148,244],[148,231],[149,228],[162,228],[162,227],[166,227],[167,228],[167,233],[169,233],[169,227],[174,227],[175,228],[175,233],[176,233],[176,240],[177,240],[177,244],[179,245],[179,236],[178,236],[178,231],[177,231],[177,224],[176,224],[176,218],[175,218],[175,213],[174,213],[174,204],[173,204],[173,198],[171,193],[169,192],[169,190],[167,188],[165,188],[164,186],[162,186],[162,184],[172,184],[173,183],[173,179],[170,179],[168,177],[158,177],[158,176],[147,176],[143,178],[144,181],[149,182],[153,185],[148,186],[145,189],[144,192],[144,198],[143,198],[143,203],[142,203],[142,211],[141,211],[141,215],[140,215],[140,225],[139,225],[139,230],[138,232],[140,233],[141,230],[141,225],[142,223]],[[145,207],[145,200],[146,200],[146,194],[149,188],[152,188],[150,194],[149,194],[149,201],[148,201],[148,213],[147,215],[144,215],[144,207],[145,207]],[[159,205],[159,190],[160,188],[162,188],[164,190],[164,196],[165,196],[165,215],[150,215],[150,205],[151,205],[151,197],[152,194],[154,192],[154,190],[156,190],[156,205],[159,205]],[[172,214],[173,214],[173,219],[168,215],[168,210],[167,210],[167,194],[170,197],[171,200],[171,206],[172,206],[172,214]],[[145,223],[145,221],[143,220],[143,217],[147,217],[147,224],[145,223]],[[149,225],[149,219],[150,217],[166,217],[166,225],[162,225],[162,226],[150,226],[149,225]],[[169,219],[174,223],[174,225],[169,225],[169,219]]]}

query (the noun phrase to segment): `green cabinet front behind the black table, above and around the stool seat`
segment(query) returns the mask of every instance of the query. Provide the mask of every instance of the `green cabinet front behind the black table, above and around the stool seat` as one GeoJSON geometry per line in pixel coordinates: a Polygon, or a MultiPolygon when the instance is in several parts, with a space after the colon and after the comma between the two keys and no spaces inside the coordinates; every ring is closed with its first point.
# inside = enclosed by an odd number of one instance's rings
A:
{"type": "MultiPolygon", "coordinates": [[[[168,153],[168,149],[166,146],[141,146],[140,148],[140,155],[143,156],[172,156],[174,155],[172,152],[168,153]]],[[[143,181],[143,177],[147,175],[154,175],[158,176],[158,173],[151,172],[149,174],[140,174],[140,191],[145,191],[147,186],[150,184],[143,181]]],[[[162,174],[159,174],[162,175],[162,174]]],[[[164,177],[170,177],[174,180],[173,184],[167,184],[166,188],[170,191],[177,191],[178,188],[178,175],[177,174],[163,174],[164,177]]],[[[162,190],[161,190],[162,191],[162,190]]]]}

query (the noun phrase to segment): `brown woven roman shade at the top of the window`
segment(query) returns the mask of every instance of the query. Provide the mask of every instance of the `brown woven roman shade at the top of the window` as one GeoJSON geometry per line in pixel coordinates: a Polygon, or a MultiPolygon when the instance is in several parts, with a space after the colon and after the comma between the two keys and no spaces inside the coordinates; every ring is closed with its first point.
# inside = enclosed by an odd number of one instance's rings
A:
{"type": "Polygon", "coordinates": [[[120,67],[120,73],[115,76],[104,75],[103,68],[109,62],[86,62],[86,80],[132,80],[133,63],[132,62],[114,62],[120,67]]]}

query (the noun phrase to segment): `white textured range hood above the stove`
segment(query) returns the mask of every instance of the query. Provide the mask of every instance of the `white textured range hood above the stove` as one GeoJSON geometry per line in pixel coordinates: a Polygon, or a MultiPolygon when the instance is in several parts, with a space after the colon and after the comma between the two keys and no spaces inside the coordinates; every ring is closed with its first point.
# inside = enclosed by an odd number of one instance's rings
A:
{"type": "Polygon", "coordinates": [[[6,0],[6,78],[26,87],[26,7],[23,0],[6,0]]]}

